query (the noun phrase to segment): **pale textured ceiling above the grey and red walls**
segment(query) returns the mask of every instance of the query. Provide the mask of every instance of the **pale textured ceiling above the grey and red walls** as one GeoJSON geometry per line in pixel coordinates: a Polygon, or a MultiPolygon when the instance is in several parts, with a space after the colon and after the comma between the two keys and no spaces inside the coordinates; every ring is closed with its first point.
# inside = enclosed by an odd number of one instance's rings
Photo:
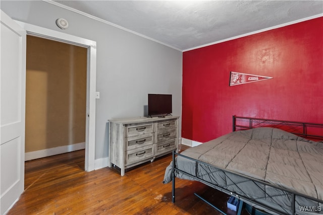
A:
{"type": "Polygon", "coordinates": [[[323,1],[53,2],[182,51],[323,16],[323,1]]]}

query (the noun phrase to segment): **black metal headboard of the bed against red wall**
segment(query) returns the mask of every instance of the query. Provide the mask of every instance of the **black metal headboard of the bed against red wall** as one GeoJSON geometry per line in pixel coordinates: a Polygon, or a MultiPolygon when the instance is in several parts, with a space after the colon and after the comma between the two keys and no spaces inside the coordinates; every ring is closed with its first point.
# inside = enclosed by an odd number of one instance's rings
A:
{"type": "Polygon", "coordinates": [[[315,141],[323,140],[323,124],[276,119],[233,116],[233,131],[257,127],[275,127],[315,141]]]}

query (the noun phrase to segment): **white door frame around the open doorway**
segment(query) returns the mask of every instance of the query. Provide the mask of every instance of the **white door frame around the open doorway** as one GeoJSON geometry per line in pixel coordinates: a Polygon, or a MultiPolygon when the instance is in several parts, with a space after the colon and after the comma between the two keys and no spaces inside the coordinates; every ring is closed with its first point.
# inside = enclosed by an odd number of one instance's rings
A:
{"type": "MultiPolygon", "coordinates": [[[[15,20],[16,21],[16,20],[15,20]]],[[[95,91],[96,91],[96,41],[84,39],[59,31],[16,21],[27,35],[55,40],[87,48],[86,71],[86,126],[85,126],[85,171],[95,168],[95,91]]]]}

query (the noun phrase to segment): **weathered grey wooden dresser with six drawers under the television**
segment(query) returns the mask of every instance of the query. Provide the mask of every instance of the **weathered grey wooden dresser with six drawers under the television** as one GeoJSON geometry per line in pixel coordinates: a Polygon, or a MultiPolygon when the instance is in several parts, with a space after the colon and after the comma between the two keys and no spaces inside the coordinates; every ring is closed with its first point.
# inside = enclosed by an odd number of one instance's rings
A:
{"type": "Polygon", "coordinates": [[[109,120],[109,167],[125,169],[153,162],[178,147],[178,116],[109,120]]]}

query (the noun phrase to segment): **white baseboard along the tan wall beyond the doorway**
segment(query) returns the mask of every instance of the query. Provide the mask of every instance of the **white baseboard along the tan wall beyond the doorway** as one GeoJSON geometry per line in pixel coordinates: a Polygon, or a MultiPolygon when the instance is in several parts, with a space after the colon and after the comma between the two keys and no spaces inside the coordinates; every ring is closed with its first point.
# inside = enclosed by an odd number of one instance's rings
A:
{"type": "Polygon", "coordinates": [[[80,142],[79,144],[67,145],[62,147],[55,147],[45,150],[38,150],[34,152],[27,152],[25,153],[25,161],[37,159],[37,158],[44,158],[52,155],[59,155],[62,153],[73,152],[77,150],[85,149],[85,142],[80,142]]]}

